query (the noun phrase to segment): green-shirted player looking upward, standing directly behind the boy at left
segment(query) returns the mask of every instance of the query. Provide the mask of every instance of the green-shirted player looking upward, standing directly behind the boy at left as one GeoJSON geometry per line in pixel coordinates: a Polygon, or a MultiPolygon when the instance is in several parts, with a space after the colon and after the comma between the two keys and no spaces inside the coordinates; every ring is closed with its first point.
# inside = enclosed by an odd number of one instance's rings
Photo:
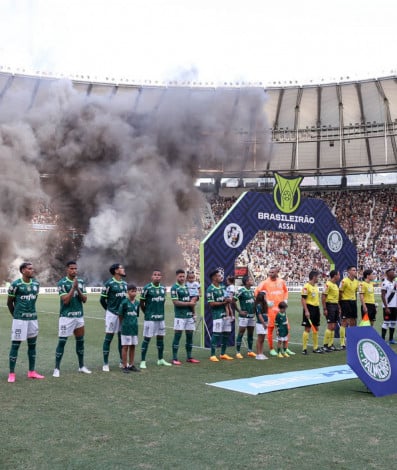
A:
{"type": "Polygon", "coordinates": [[[105,339],[103,341],[103,372],[109,372],[109,351],[113,336],[117,333],[118,350],[121,358],[121,333],[119,320],[119,307],[127,293],[127,283],[124,281],[125,269],[120,263],[112,264],[109,268],[112,275],[102,287],[99,301],[105,309],[105,339]]]}

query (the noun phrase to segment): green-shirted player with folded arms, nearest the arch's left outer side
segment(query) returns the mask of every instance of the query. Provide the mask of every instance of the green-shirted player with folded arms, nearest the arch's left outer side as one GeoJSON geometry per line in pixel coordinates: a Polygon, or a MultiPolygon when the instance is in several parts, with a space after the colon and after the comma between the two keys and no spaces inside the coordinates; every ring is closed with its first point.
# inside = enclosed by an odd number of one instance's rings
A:
{"type": "Polygon", "coordinates": [[[186,334],[186,354],[187,362],[198,364],[200,361],[192,357],[193,332],[196,327],[194,321],[194,307],[198,297],[190,298],[189,288],[185,284],[186,273],[183,269],[176,270],[176,282],[171,287],[171,300],[174,304],[174,340],[172,342],[172,364],[174,366],[182,365],[178,360],[179,342],[182,332],[186,334]]]}

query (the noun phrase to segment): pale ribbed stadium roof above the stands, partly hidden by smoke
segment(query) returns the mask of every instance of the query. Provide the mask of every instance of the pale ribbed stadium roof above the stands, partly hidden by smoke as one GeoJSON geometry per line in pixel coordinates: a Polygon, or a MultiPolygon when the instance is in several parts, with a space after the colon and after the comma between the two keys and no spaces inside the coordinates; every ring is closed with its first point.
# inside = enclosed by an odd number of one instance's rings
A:
{"type": "MultiPolygon", "coordinates": [[[[40,103],[49,83],[59,78],[0,73],[0,106],[7,96],[22,91],[26,107],[40,103]]],[[[192,93],[213,93],[219,87],[202,83],[152,84],[95,83],[84,77],[72,79],[85,95],[98,95],[131,103],[131,109],[150,113],[161,106],[167,90],[184,87],[192,93]]],[[[266,95],[267,129],[242,127],[233,122],[236,143],[246,148],[245,169],[223,165],[201,168],[201,177],[266,177],[274,171],[305,176],[351,175],[397,171],[397,76],[362,81],[264,88],[260,84],[229,84],[231,121],[241,90],[262,88],[266,95]],[[270,142],[270,144],[269,144],[270,142]],[[269,161],[257,161],[258,147],[266,145],[269,161]]],[[[238,104],[237,104],[238,106],[238,104]]]]}

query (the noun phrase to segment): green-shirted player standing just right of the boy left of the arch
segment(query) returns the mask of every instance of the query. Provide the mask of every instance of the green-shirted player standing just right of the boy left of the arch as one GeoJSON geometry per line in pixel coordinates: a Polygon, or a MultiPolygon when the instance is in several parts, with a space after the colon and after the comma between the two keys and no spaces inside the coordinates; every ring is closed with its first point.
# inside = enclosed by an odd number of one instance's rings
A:
{"type": "Polygon", "coordinates": [[[165,322],[164,322],[164,304],[165,304],[165,287],[160,284],[161,271],[155,269],[152,273],[152,282],[144,286],[140,297],[140,306],[142,312],[145,314],[143,323],[143,341],[141,347],[141,369],[146,369],[146,354],[149,347],[150,339],[156,336],[157,352],[158,352],[158,366],[171,366],[163,358],[164,354],[164,336],[165,336],[165,322]]]}

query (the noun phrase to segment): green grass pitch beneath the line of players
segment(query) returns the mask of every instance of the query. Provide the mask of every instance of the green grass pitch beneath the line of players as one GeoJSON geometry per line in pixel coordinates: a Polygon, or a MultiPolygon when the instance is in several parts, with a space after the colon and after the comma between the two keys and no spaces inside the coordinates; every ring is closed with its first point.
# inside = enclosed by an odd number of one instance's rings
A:
{"type": "MultiPolygon", "coordinates": [[[[11,316],[6,296],[0,296],[1,469],[351,470],[395,465],[396,395],[375,398],[358,379],[258,396],[206,385],[344,364],[344,352],[300,354],[297,294],[291,295],[288,309],[290,348],[296,356],[211,363],[209,352],[197,347],[194,356],[200,364],[158,367],[152,340],[148,369],[140,374],[120,372],[116,341],[111,346],[111,371],[102,372],[104,313],[98,296],[89,295],[86,365],[93,373],[78,374],[74,339],[69,338],[61,377],[55,379],[58,302],[56,295],[42,295],[37,302],[37,370],[45,380],[26,378],[22,344],[17,382],[8,384],[11,316]]],[[[378,317],[379,331],[381,314],[378,317]]],[[[172,321],[168,299],[166,359],[171,359],[172,321]]],[[[195,343],[199,342],[200,335],[195,334],[195,343]]],[[[229,353],[234,354],[234,348],[229,353]]],[[[138,347],[138,364],[139,359],[138,347]]],[[[183,339],[180,359],[185,359],[183,339]]]]}

